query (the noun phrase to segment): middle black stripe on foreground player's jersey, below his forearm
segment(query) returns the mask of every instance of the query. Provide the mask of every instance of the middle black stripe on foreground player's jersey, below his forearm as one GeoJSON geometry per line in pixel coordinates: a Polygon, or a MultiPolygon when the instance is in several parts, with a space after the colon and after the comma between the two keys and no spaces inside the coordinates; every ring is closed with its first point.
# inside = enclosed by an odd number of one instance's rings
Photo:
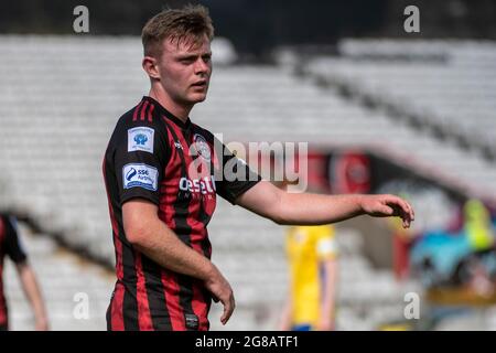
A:
{"type": "Polygon", "coordinates": [[[166,309],[168,303],[163,293],[161,269],[144,255],[141,256],[141,265],[153,329],[155,331],[172,331],[171,318],[166,309]]]}

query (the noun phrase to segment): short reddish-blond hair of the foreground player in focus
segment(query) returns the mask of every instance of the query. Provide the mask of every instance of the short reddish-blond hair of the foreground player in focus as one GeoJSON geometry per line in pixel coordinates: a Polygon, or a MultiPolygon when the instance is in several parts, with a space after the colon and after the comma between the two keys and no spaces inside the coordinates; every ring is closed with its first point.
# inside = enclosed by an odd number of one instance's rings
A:
{"type": "Polygon", "coordinates": [[[200,44],[204,35],[214,39],[214,25],[208,9],[198,6],[186,6],[183,9],[166,9],[148,20],[141,32],[145,56],[160,56],[162,42],[168,39],[177,44],[192,41],[200,44]]]}

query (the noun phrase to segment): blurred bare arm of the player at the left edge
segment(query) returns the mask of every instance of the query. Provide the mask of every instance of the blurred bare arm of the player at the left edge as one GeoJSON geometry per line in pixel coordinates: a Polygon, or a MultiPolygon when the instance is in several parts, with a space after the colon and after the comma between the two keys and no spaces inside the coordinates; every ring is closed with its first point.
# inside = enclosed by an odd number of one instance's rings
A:
{"type": "Polygon", "coordinates": [[[34,311],[35,329],[36,331],[47,331],[48,320],[34,271],[28,263],[18,264],[17,269],[24,295],[34,311]]]}

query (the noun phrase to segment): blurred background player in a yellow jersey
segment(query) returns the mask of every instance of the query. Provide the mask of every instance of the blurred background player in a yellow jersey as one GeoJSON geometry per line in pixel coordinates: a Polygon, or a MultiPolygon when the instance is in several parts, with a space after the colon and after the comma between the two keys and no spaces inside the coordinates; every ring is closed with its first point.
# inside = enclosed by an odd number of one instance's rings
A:
{"type": "Polygon", "coordinates": [[[337,246],[332,225],[288,228],[290,293],[282,330],[330,331],[335,328],[337,246]]]}

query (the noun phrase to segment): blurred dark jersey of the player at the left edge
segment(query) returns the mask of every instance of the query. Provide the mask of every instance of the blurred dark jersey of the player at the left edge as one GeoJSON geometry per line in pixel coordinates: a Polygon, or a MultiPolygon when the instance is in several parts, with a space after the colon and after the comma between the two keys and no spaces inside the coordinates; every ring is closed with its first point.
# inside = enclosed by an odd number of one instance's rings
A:
{"type": "Polygon", "coordinates": [[[3,259],[8,255],[15,264],[26,260],[17,231],[15,220],[7,215],[0,215],[0,327],[8,325],[8,310],[3,293],[3,259]]]}

